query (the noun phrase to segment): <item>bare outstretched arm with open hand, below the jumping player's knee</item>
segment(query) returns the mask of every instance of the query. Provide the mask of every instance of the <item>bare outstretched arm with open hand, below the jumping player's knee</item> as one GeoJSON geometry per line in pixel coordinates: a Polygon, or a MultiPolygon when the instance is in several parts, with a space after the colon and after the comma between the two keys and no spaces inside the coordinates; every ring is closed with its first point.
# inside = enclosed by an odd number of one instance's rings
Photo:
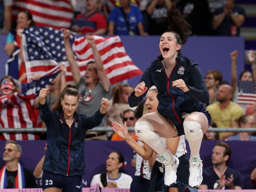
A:
{"type": "Polygon", "coordinates": [[[126,123],[124,127],[121,126],[118,122],[112,122],[112,129],[115,131],[121,138],[123,138],[130,147],[137,152],[143,159],[148,160],[152,154],[153,150],[147,145],[141,146],[137,143],[129,134],[126,123]]]}

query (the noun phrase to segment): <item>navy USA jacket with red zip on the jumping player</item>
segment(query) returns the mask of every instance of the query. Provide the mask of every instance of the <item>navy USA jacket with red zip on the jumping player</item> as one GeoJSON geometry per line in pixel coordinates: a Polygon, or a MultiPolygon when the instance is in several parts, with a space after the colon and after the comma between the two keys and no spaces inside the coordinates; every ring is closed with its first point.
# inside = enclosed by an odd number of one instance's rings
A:
{"type": "MultiPolygon", "coordinates": [[[[149,68],[143,73],[140,82],[144,81],[149,89],[155,85],[159,91],[157,98],[159,105],[158,112],[171,119],[174,124],[182,123],[183,112],[196,112],[204,108],[203,103],[209,103],[209,93],[201,73],[198,63],[188,59],[185,56],[176,58],[176,65],[168,77],[161,62],[164,58],[159,56],[153,61],[149,68]],[[180,88],[172,87],[172,81],[183,79],[190,91],[183,92],[180,88]]],[[[140,83],[139,82],[139,83],[140,83]]],[[[139,97],[134,96],[133,92],[128,102],[130,107],[137,106],[147,91],[139,97]]]]}

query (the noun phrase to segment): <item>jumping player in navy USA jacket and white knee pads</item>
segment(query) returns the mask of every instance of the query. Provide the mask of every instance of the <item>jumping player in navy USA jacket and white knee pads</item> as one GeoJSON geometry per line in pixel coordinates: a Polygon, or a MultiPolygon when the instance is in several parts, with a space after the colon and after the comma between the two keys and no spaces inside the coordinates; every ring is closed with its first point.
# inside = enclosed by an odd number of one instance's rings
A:
{"type": "Polygon", "coordinates": [[[163,159],[164,183],[167,186],[176,182],[179,162],[166,150],[160,137],[185,135],[191,151],[189,185],[197,187],[203,180],[203,164],[199,155],[201,141],[211,122],[203,104],[209,102],[209,93],[199,64],[180,53],[181,45],[191,34],[191,26],[176,9],[175,3],[171,4],[167,14],[170,31],[161,35],[161,55],[143,73],[128,101],[130,107],[137,106],[147,94],[147,89],[156,86],[159,91],[158,112],[138,119],[135,132],[163,159]]]}

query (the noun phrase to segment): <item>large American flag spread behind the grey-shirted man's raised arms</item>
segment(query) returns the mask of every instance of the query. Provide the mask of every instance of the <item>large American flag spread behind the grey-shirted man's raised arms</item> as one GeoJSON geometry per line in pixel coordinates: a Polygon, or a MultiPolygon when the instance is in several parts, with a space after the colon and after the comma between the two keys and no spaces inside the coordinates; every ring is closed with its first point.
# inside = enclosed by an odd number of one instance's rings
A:
{"type": "MultiPolygon", "coordinates": [[[[94,35],[94,38],[111,84],[142,74],[126,54],[119,36],[103,38],[94,35]]],[[[23,31],[22,40],[28,82],[35,74],[45,76],[57,72],[57,65],[65,63],[68,72],[66,80],[72,84],[62,30],[33,26],[23,31]]],[[[73,43],[81,73],[84,74],[87,63],[93,59],[92,49],[85,37],[75,39],[71,35],[70,42],[73,43]]]]}

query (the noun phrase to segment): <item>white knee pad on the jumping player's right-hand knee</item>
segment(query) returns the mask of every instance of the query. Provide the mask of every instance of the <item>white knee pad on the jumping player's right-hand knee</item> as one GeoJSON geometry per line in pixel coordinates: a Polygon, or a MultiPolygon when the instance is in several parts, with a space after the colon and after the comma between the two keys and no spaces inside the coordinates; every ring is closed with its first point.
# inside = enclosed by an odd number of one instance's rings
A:
{"type": "Polygon", "coordinates": [[[186,121],[183,123],[184,132],[187,140],[198,140],[203,138],[201,125],[196,121],[186,121]]]}

